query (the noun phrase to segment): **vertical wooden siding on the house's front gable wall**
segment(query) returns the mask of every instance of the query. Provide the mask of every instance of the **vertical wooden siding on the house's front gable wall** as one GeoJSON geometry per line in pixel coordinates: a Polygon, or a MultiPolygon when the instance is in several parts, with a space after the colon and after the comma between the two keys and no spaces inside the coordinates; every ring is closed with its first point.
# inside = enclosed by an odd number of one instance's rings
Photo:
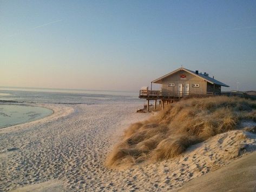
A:
{"type": "Polygon", "coordinates": [[[189,94],[206,94],[207,92],[207,81],[183,70],[164,78],[162,82],[162,91],[178,92],[178,85],[182,83],[189,84],[189,94]],[[186,80],[181,80],[180,75],[186,75],[186,80]],[[175,86],[168,87],[169,83],[174,83],[175,86]],[[199,84],[199,87],[192,87],[192,84],[199,84]]]}

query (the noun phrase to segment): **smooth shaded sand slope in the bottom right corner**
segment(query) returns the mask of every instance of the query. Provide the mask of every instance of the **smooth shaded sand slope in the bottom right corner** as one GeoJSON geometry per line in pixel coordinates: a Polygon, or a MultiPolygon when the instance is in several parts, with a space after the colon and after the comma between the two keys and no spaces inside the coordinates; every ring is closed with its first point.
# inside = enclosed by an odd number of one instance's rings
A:
{"type": "Polygon", "coordinates": [[[255,175],[256,152],[253,152],[173,191],[256,191],[255,175]]]}

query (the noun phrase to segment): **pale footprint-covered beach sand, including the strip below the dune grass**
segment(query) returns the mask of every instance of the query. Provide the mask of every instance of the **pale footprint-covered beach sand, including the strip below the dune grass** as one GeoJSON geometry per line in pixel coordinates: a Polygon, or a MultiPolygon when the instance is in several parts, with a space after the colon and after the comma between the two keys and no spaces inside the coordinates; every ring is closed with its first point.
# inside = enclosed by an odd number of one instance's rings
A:
{"type": "Polygon", "coordinates": [[[40,104],[49,117],[0,129],[0,190],[160,191],[175,189],[256,150],[255,134],[234,130],[192,145],[172,160],[111,170],[104,161],[140,104],[40,104]]]}

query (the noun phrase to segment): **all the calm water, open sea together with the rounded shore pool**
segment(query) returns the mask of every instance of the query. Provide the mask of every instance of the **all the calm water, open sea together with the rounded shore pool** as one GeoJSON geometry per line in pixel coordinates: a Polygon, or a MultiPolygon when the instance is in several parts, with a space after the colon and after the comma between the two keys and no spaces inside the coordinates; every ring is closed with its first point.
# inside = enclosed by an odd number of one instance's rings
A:
{"type": "Polygon", "coordinates": [[[34,107],[34,103],[104,104],[143,102],[139,92],[83,89],[42,89],[0,87],[0,129],[35,121],[52,114],[52,110],[34,107]]]}

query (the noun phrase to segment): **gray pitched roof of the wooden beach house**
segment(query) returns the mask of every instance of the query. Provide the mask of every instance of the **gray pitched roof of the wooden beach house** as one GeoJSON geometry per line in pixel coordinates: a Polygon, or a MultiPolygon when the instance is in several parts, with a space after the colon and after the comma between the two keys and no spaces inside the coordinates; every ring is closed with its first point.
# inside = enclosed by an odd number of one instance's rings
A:
{"type": "Polygon", "coordinates": [[[185,69],[185,68],[179,68],[179,69],[177,69],[177,70],[175,70],[175,71],[172,71],[172,72],[170,72],[169,74],[167,74],[167,75],[165,75],[165,76],[162,76],[162,77],[160,77],[160,78],[157,78],[156,80],[152,81],[152,83],[160,83],[163,78],[166,78],[166,77],[168,77],[168,76],[170,76],[170,75],[172,75],[172,74],[174,74],[175,72],[180,71],[180,70],[184,70],[184,71],[189,72],[190,74],[193,74],[193,75],[195,75],[195,76],[201,77],[201,78],[203,78],[204,80],[206,80],[206,81],[209,82],[209,83],[221,85],[221,86],[224,86],[224,87],[229,87],[229,86],[226,85],[225,83],[222,83],[222,82],[220,82],[220,81],[218,81],[218,80],[215,80],[215,79],[212,78],[212,77],[206,76],[206,75],[204,75],[204,74],[196,74],[195,71],[192,71],[192,70],[189,70],[189,69],[185,69]]]}

